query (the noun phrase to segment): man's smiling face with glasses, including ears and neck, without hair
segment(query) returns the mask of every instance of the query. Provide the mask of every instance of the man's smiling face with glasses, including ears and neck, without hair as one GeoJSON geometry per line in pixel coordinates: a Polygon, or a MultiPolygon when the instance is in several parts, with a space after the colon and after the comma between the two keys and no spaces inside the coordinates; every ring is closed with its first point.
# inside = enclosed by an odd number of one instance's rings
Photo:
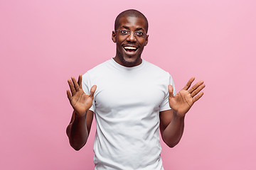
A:
{"type": "Polygon", "coordinates": [[[142,63],[142,51],[149,36],[145,28],[146,21],[142,17],[123,16],[119,19],[117,30],[112,32],[112,40],[117,43],[117,54],[114,57],[117,63],[125,67],[142,63]]]}

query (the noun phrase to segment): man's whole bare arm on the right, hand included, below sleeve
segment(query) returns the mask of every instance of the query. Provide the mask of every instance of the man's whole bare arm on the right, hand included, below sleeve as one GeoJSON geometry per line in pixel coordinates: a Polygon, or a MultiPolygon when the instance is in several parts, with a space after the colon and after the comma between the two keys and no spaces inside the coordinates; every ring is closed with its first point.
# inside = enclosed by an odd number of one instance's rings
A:
{"type": "Polygon", "coordinates": [[[181,140],[185,115],[193,103],[203,96],[203,92],[198,94],[206,86],[203,81],[199,81],[189,89],[194,79],[191,78],[176,96],[173,95],[173,87],[169,85],[169,105],[172,109],[160,113],[161,137],[169,147],[174,147],[181,140]]]}

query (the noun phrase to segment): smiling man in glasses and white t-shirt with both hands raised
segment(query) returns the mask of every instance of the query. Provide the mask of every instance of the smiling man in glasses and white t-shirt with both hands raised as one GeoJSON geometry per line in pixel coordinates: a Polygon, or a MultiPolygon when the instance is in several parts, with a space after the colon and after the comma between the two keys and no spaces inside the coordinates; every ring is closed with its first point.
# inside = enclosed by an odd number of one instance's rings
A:
{"type": "Polygon", "coordinates": [[[95,169],[164,169],[159,129],[166,145],[177,145],[186,113],[203,96],[203,81],[190,88],[194,78],[175,95],[170,74],[142,60],[147,30],[142,13],[123,11],[112,32],[115,57],[78,82],[68,80],[74,108],[67,128],[70,145],[76,150],[85,145],[95,115],[95,169]]]}

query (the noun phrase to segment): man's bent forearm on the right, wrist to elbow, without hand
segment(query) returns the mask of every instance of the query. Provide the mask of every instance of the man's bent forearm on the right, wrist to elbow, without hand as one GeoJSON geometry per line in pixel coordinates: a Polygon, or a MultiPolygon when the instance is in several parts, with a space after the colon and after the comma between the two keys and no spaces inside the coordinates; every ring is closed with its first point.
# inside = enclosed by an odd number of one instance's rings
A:
{"type": "Polygon", "coordinates": [[[166,145],[174,147],[181,140],[184,130],[184,118],[179,117],[176,113],[173,114],[171,123],[164,130],[162,137],[166,145]]]}

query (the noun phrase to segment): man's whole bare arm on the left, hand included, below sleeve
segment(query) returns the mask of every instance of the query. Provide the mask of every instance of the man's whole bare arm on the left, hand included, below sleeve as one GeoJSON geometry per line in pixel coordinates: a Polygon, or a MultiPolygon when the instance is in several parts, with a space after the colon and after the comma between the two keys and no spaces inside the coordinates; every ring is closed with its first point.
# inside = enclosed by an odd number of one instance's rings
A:
{"type": "Polygon", "coordinates": [[[72,81],[68,80],[68,84],[72,95],[69,90],[67,91],[67,95],[74,111],[66,132],[71,147],[75,150],[79,150],[87,142],[90,133],[93,112],[89,111],[89,108],[92,106],[96,86],[92,86],[90,95],[86,95],[82,90],[82,76],[79,76],[78,82],[75,81],[74,77],[71,79],[72,81]]]}

